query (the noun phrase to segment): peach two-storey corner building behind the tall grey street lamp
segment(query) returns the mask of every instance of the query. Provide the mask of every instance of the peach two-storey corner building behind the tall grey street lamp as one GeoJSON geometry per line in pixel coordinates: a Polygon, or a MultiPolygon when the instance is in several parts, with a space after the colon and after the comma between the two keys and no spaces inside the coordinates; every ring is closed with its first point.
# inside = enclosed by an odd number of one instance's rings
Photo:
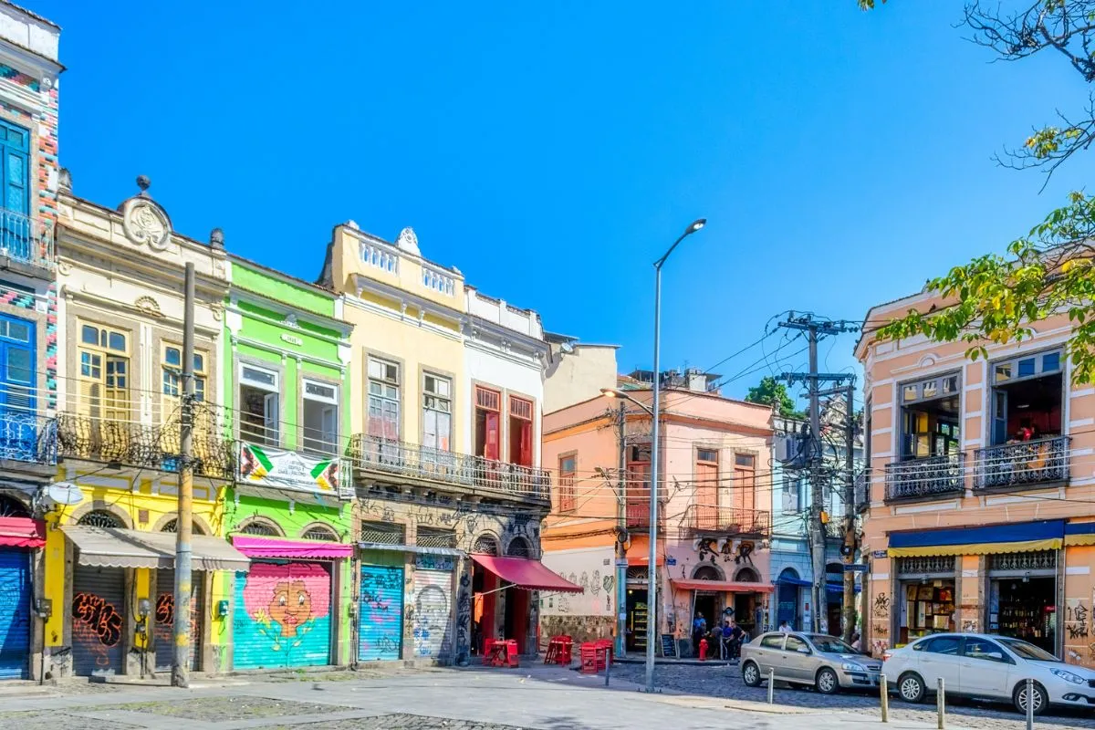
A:
{"type": "MultiPolygon", "coordinates": [[[[633,375],[619,379],[620,390],[649,406],[653,373],[633,375]]],[[[679,650],[689,651],[696,611],[708,626],[734,615],[750,633],[764,627],[773,589],[772,412],[707,392],[717,375],[670,371],[662,378],[657,633],[672,634],[679,650]]],[[[551,387],[549,378],[545,392],[551,387]]],[[[603,395],[544,416],[543,463],[556,478],[543,563],[586,592],[549,598],[541,636],[614,636],[619,612],[627,650],[645,650],[650,426],[639,405],[603,395]],[[618,497],[621,447],[625,483],[618,497]],[[625,557],[625,568],[616,569],[618,557],[625,557]]]]}

